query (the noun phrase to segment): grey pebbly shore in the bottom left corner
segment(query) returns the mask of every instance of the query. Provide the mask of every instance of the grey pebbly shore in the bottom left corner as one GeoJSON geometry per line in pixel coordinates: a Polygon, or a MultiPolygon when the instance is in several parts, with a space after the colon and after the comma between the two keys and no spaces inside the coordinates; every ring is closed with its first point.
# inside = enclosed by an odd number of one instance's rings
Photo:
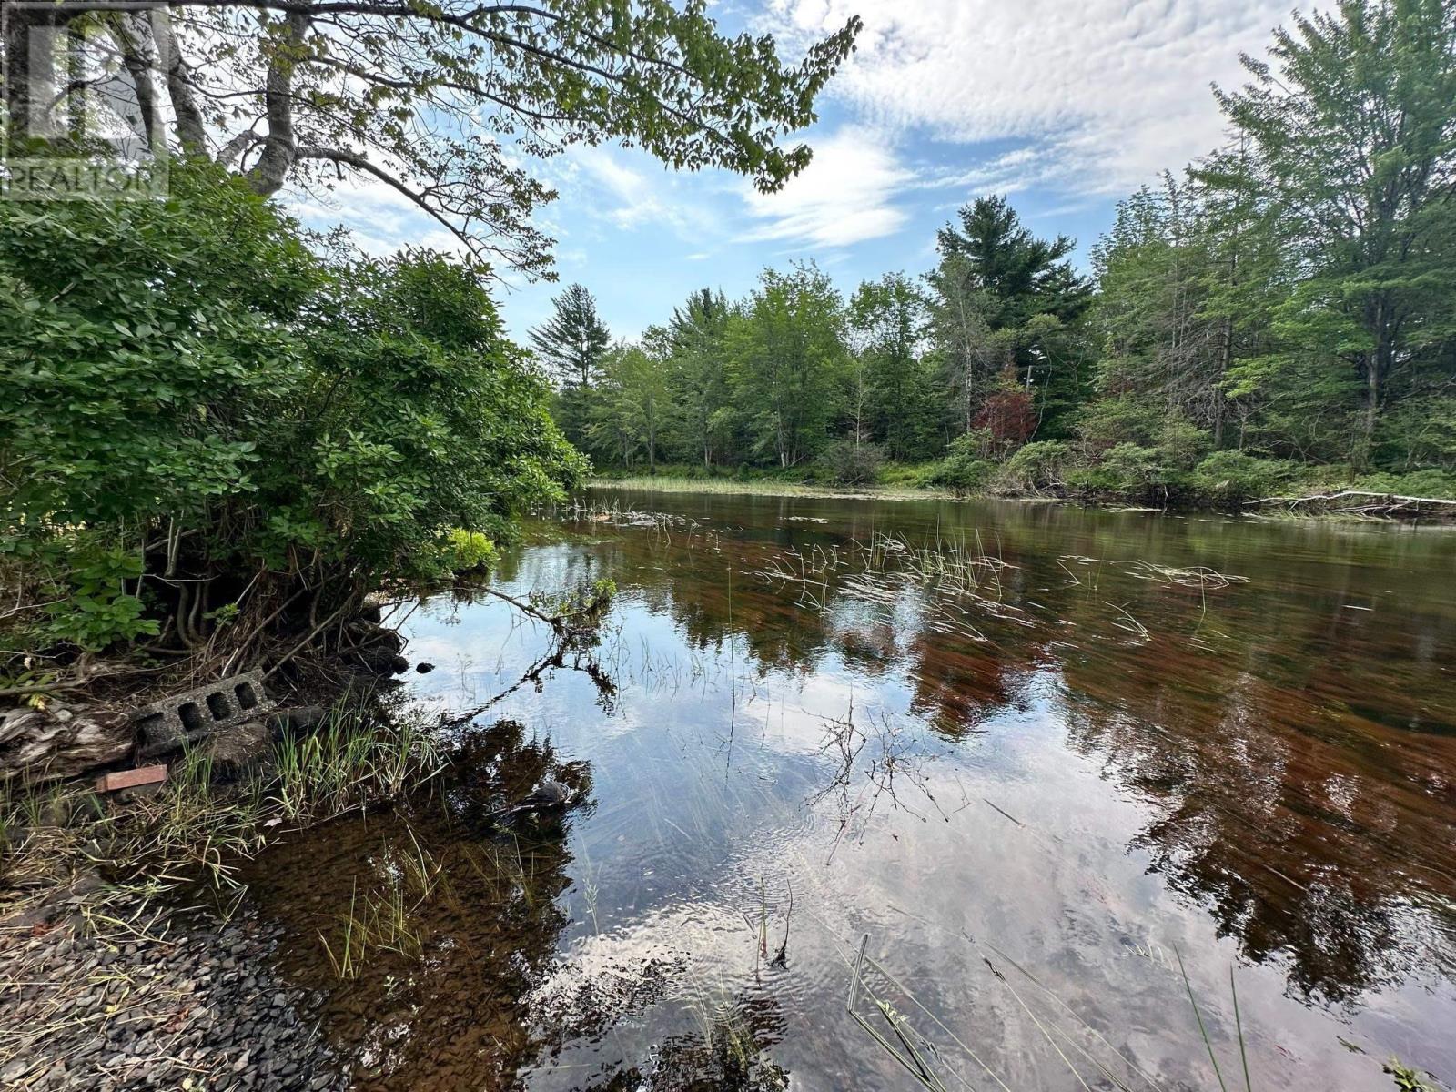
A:
{"type": "Polygon", "coordinates": [[[322,997],[272,971],[280,927],[246,903],[201,910],[109,907],[87,925],[84,891],[0,930],[0,1088],[266,1089],[349,1085],[323,1042],[322,997]]]}

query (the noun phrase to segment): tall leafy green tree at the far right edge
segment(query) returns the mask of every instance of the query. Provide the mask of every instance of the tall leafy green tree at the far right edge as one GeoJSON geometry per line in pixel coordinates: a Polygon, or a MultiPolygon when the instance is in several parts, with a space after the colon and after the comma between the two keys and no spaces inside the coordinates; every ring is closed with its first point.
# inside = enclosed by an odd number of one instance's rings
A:
{"type": "Polygon", "coordinates": [[[1353,456],[1367,463],[1396,379],[1456,331],[1456,19],[1443,0],[1344,0],[1296,16],[1219,92],[1248,140],[1289,264],[1307,271],[1281,309],[1289,354],[1342,361],[1363,387],[1353,456]]]}

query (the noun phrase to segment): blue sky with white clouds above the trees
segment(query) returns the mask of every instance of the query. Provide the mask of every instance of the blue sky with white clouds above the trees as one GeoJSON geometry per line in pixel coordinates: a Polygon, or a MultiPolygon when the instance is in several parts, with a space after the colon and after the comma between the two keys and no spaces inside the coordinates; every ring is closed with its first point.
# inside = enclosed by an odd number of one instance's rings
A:
{"type": "MultiPolygon", "coordinates": [[[[850,61],[796,134],[812,163],[778,194],[721,170],[680,173],[616,146],[540,162],[561,197],[537,220],[559,282],[505,277],[496,297],[524,339],[574,281],[614,336],[636,338],[700,287],[741,297],[766,266],[820,264],[847,296],[935,264],[960,205],[1006,194],[1038,234],[1077,240],[1077,262],[1120,198],[1220,143],[1210,84],[1242,83],[1289,0],[721,0],[728,32],[767,32],[783,58],[859,15],[850,61]]],[[[357,185],[306,223],[349,227],[364,249],[453,240],[384,186],[357,185]]]]}

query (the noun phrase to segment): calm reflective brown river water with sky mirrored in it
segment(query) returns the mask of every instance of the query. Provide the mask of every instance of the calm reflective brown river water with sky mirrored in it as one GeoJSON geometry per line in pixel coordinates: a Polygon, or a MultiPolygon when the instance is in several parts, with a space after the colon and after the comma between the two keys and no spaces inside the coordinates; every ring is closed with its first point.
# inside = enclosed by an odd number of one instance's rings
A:
{"type": "MultiPolygon", "coordinates": [[[[534,521],[496,585],[610,577],[596,646],[253,877],[360,1086],[916,1088],[909,1042],[948,1089],[1216,1089],[1191,989],[1242,1088],[1230,970],[1257,1089],[1456,1079],[1456,534],[590,499],[657,515],[534,521]],[[590,804],[492,818],[547,769],[590,804]],[[389,890],[408,951],[339,980],[389,890]]],[[[406,630],[431,711],[552,644],[496,600],[406,630]]]]}

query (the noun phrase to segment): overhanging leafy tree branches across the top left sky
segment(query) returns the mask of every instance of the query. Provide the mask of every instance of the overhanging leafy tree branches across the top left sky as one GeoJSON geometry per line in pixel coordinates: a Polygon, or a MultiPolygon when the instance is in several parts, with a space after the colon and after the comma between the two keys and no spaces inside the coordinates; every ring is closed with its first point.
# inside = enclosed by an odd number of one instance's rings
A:
{"type": "MultiPolygon", "coordinates": [[[[759,189],[810,162],[782,134],[853,48],[858,17],[779,60],[772,38],[718,31],[700,0],[176,0],[154,41],[144,16],[82,0],[12,13],[12,64],[41,23],[111,36],[138,96],[165,96],[170,144],[269,195],[380,182],[456,234],[469,253],[547,272],[552,240],[531,213],[555,194],[521,165],[571,144],[620,140],[673,167],[725,167],[759,189]],[[167,60],[162,87],[146,73],[167,60]]],[[[67,35],[58,35],[64,41],[67,35]]],[[[17,73],[19,68],[12,68],[17,73]]],[[[12,124],[29,118],[9,83],[12,124]]],[[[55,103],[66,109],[66,102],[55,103]]]]}

